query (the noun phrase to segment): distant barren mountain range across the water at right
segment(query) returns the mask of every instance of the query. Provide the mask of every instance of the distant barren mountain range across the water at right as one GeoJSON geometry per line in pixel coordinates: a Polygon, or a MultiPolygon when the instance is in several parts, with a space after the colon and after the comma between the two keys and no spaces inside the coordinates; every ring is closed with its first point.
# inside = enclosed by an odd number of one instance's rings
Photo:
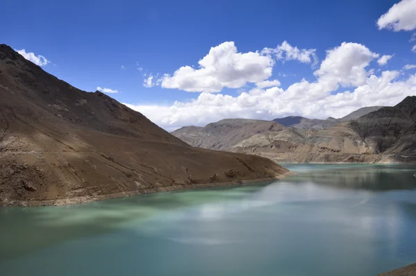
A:
{"type": "Polygon", "coordinates": [[[363,107],[340,119],[225,119],[172,134],[192,146],[280,162],[411,162],[415,122],[416,96],[409,96],[395,107],[363,107]]]}

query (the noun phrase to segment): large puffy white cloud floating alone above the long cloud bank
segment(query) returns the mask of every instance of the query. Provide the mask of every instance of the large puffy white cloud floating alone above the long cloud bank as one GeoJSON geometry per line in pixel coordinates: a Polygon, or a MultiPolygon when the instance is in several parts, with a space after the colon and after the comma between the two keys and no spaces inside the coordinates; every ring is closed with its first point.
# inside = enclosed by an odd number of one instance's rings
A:
{"type": "Polygon", "coordinates": [[[239,53],[234,42],[224,42],[212,47],[198,64],[198,69],[184,66],[172,76],[165,74],[162,87],[207,93],[220,92],[224,87],[240,88],[270,78],[274,61],[258,51],[239,53]]]}

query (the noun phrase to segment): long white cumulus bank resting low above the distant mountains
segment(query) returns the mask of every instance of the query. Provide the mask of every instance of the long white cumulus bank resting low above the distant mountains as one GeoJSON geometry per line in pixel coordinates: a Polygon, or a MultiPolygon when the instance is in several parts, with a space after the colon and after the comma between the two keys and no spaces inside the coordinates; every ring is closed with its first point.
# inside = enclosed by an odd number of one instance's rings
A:
{"type": "Polygon", "coordinates": [[[378,55],[362,44],[343,43],[327,51],[312,83],[303,79],[287,89],[256,87],[238,96],[203,92],[173,105],[126,105],[171,131],[225,118],[343,117],[360,107],[395,105],[416,94],[416,74],[406,80],[399,79],[399,71],[369,74],[366,69],[374,58],[378,55]],[[354,88],[331,94],[338,85],[354,88]]]}

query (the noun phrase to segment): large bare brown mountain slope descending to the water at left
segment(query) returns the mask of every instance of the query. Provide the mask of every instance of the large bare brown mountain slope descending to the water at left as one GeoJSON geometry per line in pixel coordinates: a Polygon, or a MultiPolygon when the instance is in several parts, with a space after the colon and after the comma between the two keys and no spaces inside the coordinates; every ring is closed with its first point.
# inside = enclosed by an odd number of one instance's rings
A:
{"type": "Polygon", "coordinates": [[[263,157],[193,148],[4,44],[0,98],[0,205],[62,205],[291,174],[263,157]]]}

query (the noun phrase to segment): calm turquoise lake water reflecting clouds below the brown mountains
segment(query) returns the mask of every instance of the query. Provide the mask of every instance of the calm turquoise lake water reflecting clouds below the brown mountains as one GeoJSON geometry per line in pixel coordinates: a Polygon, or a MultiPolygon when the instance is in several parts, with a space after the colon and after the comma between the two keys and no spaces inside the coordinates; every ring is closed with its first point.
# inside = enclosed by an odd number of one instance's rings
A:
{"type": "Polygon", "coordinates": [[[376,275],[416,262],[416,166],[0,209],[0,275],[376,275]]]}

